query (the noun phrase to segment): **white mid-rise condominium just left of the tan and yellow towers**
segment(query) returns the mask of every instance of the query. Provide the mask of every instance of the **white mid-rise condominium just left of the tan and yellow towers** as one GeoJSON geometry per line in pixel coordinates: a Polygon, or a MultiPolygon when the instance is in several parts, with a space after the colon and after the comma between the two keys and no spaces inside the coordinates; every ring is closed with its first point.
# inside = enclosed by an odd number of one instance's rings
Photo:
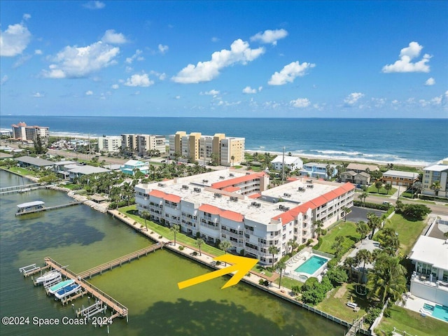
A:
{"type": "Polygon", "coordinates": [[[121,134],[121,148],[127,153],[140,156],[151,155],[151,151],[167,153],[166,139],[163,135],[153,134],[121,134]]]}

